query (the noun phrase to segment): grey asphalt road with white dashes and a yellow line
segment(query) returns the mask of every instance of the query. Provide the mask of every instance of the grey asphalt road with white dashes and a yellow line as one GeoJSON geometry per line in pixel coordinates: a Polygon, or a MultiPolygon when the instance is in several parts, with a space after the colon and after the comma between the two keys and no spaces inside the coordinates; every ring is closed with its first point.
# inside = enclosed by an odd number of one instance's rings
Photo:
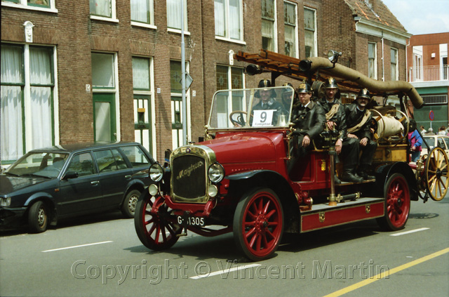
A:
{"type": "Polygon", "coordinates": [[[232,234],[149,251],[121,213],[0,237],[0,296],[449,296],[449,195],[412,202],[404,230],[375,220],[284,237],[251,263],[232,234]]]}

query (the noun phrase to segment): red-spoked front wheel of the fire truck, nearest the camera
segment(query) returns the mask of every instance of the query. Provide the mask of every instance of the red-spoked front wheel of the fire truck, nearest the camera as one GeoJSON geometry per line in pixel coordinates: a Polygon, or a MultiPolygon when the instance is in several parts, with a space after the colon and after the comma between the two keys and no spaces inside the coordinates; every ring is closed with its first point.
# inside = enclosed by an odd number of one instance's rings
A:
{"type": "Polygon", "coordinates": [[[234,213],[234,239],[250,260],[271,257],[283,234],[283,209],[275,192],[259,188],[248,192],[234,213]]]}

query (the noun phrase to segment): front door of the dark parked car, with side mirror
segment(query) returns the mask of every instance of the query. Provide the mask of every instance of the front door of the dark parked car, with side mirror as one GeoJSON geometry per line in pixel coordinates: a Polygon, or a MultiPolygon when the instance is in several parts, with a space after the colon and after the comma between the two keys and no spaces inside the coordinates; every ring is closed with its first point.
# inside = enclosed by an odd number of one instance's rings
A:
{"type": "Polygon", "coordinates": [[[75,154],[62,177],[58,192],[60,215],[89,213],[102,207],[101,184],[91,152],[75,154]],[[78,173],[78,177],[65,179],[69,171],[78,173]]]}

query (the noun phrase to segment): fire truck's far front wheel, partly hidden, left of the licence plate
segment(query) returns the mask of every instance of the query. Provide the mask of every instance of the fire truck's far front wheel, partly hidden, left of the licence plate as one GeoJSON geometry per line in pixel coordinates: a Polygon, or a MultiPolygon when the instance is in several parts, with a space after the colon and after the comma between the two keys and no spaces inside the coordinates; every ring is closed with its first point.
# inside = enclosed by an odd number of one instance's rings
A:
{"type": "Polygon", "coordinates": [[[140,242],[154,251],[169,249],[177,242],[182,228],[164,218],[168,207],[163,204],[157,214],[152,214],[155,198],[144,191],[135,207],[134,226],[140,242]]]}

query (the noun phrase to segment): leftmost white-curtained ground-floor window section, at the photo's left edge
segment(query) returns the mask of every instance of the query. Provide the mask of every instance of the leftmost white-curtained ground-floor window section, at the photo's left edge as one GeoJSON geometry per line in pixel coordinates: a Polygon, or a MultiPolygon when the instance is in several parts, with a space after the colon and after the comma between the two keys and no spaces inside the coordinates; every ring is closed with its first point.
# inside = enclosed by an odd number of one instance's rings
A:
{"type": "MultiPolygon", "coordinates": [[[[22,79],[23,48],[1,46],[1,83],[18,84],[22,79]]],[[[23,155],[22,87],[1,86],[0,157],[16,160],[23,155]]]]}

